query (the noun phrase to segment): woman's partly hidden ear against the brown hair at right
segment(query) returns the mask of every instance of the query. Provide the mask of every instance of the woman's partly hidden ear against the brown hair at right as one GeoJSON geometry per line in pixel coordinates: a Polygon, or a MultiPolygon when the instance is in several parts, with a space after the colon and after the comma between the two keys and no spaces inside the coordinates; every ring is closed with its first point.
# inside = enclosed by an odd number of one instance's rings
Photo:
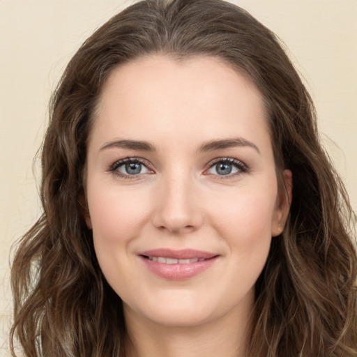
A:
{"type": "Polygon", "coordinates": [[[284,190],[278,192],[278,197],[275,203],[275,212],[271,222],[271,236],[273,237],[282,234],[285,222],[287,222],[287,217],[289,215],[293,188],[293,174],[290,170],[284,170],[283,180],[284,190]]]}

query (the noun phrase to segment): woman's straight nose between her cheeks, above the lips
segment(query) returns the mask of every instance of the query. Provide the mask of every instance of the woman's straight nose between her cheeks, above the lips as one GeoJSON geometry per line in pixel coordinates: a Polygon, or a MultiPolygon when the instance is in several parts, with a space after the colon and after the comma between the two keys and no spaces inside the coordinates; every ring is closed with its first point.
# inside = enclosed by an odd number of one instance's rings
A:
{"type": "Polygon", "coordinates": [[[160,182],[155,201],[152,219],[158,229],[186,234],[202,226],[204,213],[192,180],[167,177],[160,182]]]}

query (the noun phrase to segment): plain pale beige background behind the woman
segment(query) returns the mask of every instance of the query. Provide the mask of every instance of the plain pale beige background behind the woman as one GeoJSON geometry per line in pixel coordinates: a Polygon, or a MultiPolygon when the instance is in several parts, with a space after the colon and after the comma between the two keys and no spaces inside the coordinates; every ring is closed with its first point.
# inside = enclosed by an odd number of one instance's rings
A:
{"type": "MultiPolygon", "coordinates": [[[[32,160],[45,130],[50,93],[82,41],[132,2],[0,0],[1,356],[9,356],[10,247],[40,214],[32,160]]],[[[236,3],[278,33],[289,48],[317,105],[322,139],[356,210],[357,0],[236,3]]],[[[38,179],[39,174],[37,169],[38,179]]]]}

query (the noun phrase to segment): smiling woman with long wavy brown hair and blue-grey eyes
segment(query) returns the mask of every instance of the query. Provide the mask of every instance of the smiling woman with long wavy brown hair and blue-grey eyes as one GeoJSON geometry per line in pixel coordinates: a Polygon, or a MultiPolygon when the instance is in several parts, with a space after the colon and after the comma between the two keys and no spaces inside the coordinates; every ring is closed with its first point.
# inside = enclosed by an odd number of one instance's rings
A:
{"type": "Polygon", "coordinates": [[[142,1],[109,20],[66,68],[42,163],[13,262],[25,356],[357,356],[347,194],[244,10],[142,1]]]}

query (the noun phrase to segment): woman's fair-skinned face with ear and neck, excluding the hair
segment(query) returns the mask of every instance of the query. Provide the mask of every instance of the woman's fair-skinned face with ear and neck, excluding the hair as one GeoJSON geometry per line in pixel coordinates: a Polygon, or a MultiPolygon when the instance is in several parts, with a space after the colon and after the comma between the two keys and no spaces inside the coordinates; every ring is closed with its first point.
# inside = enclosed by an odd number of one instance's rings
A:
{"type": "Polygon", "coordinates": [[[256,87],[212,57],[119,66],[86,167],[86,223],[123,300],[128,356],[245,356],[255,282],[289,211],[256,87]]]}

